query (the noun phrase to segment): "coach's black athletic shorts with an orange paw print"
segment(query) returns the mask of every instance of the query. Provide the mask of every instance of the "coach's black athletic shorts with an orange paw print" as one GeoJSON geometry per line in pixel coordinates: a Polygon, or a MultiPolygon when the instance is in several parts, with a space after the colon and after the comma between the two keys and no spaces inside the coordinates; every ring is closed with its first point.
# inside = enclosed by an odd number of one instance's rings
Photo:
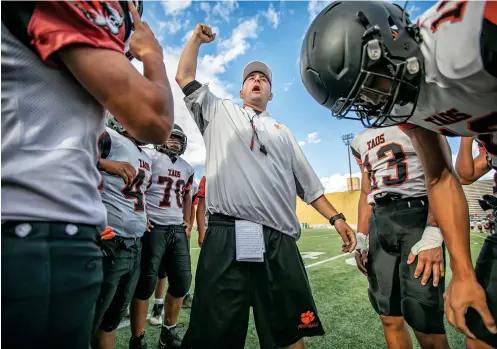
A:
{"type": "Polygon", "coordinates": [[[210,215],[184,349],[243,349],[249,310],[263,349],[324,335],[294,238],[264,227],[263,263],[237,262],[235,219],[210,215]]]}

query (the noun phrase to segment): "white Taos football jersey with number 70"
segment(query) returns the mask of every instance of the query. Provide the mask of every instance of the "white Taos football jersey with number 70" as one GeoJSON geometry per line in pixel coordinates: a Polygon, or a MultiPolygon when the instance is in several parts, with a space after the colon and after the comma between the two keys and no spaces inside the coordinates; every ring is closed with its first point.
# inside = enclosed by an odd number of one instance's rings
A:
{"type": "Polygon", "coordinates": [[[183,223],[183,196],[193,182],[193,167],[181,157],[172,161],[155,149],[143,148],[152,160],[152,183],[147,190],[147,214],[158,225],[183,223]]]}

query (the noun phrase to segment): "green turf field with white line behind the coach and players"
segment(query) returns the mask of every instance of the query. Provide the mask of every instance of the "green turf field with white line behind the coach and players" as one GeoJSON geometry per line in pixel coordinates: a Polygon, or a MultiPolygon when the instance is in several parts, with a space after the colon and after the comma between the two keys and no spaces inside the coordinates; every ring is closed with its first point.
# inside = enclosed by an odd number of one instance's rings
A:
{"type": "MultiPolygon", "coordinates": [[[[480,233],[471,234],[473,262],[476,261],[485,236],[480,233]]],[[[191,251],[193,273],[195,273],[200,253],[196,242],[197,235],[193,232],[191,251]]],[[[306,348],[385,348],[380,321],[368,300],[366,277],[357,270],[355,264],[347,264],[347,260],[353,258],[353,255],[342,253],[341,239],[338,234],[334,230],[305,230],[298,245],[306,264],[319,316],[326,331],[323,337],[306,339],[306,348]]],[[[447,261],[447,268],[448,265],[449,261],[447,261]]],[[[449,270],[446,275],[446,284],[450,277],[449,270]]],[[[193,290],[194,284],[192,283],[191,292],[193,290]]],[[[152,303],[151,301],[150,307],[152,303]]],[[[182,327],[183,334],[188,327],[189,316],[190,310],[182,309],[179,326],[182,327]]],[[[447,328],[451,348],[463,349],[465,347],[463,336],[450,325],[447,325],[447,328]]],[[[147,323],[146,336],[149,348],[157,348],[159,333],[160,326],[154,327],[147,323]]],[[[116,348],[127,348],[129,336],[129,321],[126,318],[118,331],[116,348]]],[[[415,343],[414,347],[419,348],[419,345],[415,343]]],[[[245,348],[259,348],[252,320],[249,324],[245,348]]]]}

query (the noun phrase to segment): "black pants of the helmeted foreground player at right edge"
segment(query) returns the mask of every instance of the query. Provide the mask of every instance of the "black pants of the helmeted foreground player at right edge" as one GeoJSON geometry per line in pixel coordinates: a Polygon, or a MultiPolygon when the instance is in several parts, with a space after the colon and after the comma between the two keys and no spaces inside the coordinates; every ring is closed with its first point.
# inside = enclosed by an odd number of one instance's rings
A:
{"type": "MultiPolygon", "coordinates": [[[[476,278],[485,290],[487,305],[497,321],[497,234],[488,236],[476,261],[476,278]]],[[[479,340],[497,348],[497,335],[490,333],[473,308],[466,314],[466,324],[479,340]]]]}

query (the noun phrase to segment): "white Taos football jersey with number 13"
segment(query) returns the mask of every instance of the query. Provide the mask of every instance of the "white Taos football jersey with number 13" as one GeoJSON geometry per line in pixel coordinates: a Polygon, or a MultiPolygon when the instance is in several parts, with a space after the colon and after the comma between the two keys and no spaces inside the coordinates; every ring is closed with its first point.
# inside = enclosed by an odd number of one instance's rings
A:
{"type": "Polygon", "coordinates": [[[352,154],[369,173],[368,203],[382,192],[403,198],[425,196],[425,174],[409,137],[397,126],[365,129],[350,146],[352,154]]]}

